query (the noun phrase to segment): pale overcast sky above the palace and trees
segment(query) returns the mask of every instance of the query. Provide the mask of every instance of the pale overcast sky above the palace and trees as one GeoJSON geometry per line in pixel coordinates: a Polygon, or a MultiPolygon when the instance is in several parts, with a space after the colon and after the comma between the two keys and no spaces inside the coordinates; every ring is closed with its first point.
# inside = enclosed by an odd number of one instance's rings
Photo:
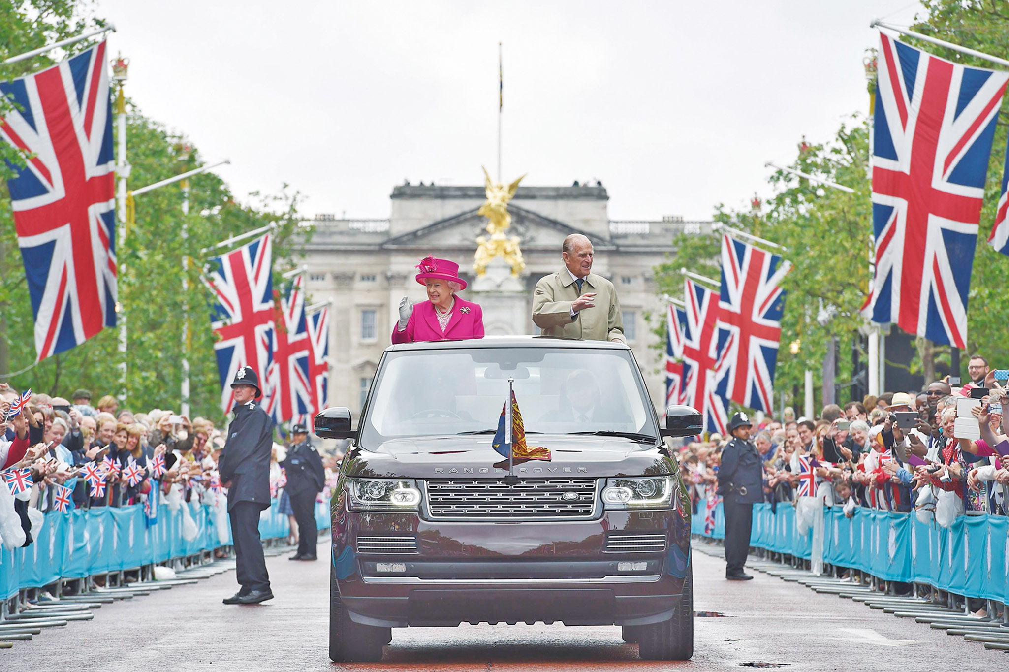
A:
{"type": "MultiPolygon", "coordinates": [[[[769,193],[768,160],[867,112],[869,22],[907,0],[98,0],[128,95],[236,194],[386,217],[404,179],[601,180],[612,219],[709,218],[769,193]]],[[[139,185],[136,185],[139,186],[139,185]]]]}

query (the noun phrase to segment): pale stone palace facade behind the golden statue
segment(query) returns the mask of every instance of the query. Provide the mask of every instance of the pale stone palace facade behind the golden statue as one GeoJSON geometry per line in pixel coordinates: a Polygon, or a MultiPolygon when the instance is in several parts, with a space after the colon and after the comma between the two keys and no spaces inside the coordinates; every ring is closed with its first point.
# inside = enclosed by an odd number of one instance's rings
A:
{"type": "MultiPolygon", "coordinates": [[[[509,235],[521,238],[526,269],[520,281],[526,310],[511,321],[484,320],[487,335],[536,334],[532,320],[536,282],[563,265],[561,242],[569,233],[592,241],[592,272],[616,288],[628,344],[648,381],[656,408],[664,407],[663,349],[652,332],[664,316],[665,302],[656,295],[653,268],[673,251],[680,233],[710,231],[711,222],[613,221],[609,197],[601,185],[520,187],[509,205],[509,235]],[[649,320],[651,316],[651,320],[649,320]]],[[[470,285],[460,296],[484,305],[486,296],[473,290],[476,238],[485,235],[486,220],[476,211],[484,202],[483,187],[403,185],[393,189],[387,219],[339,219],[317,215],[315,232],[305,244],[309,300],[331,300],[330,379],[328,406],[360,412],[368,385],[399,317],[404,296],[425,301],[424,287],[414,276],[419,259],[428,254],[459,263],[470,285]]],[[[492,313],[484,306],[485,314],[492,313]]]]}

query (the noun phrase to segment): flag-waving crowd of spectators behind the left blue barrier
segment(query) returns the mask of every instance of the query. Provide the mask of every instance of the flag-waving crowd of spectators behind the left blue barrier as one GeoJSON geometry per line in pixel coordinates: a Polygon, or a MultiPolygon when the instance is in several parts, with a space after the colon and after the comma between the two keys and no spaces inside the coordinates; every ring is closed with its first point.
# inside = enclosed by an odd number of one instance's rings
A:
{"type": "MultiPolygon", "coordinates": [[[[158,507],[183,511],[183,535],[196,524],[183,501],[212,508],[222,545],[227,538],[227,490],[217,471],[225,436],[205,418],[167,409],[133,413],[105,396],[92,405],[91,393],[78,389],[70,400],[21,395],[0,383],[0,539],[8,548],[29,545],[46,512],[140,505],[148,519],[158,507]],[[12,407],[14,412],[11,412],[12,407]]],[[[274,444],[271,494],[282,499],[286,475],[279,462],[285,446],[274,444]]],[[[327,482],[335,480],[337,461],[324,460],[327,482]]],[[[320,498],[328,497],[328,487],[320,498]]],[[[297,540],[295,526],[292,538],[297,540]]],[[[188,537],[192,539],[192,537],[188,537]]]]}

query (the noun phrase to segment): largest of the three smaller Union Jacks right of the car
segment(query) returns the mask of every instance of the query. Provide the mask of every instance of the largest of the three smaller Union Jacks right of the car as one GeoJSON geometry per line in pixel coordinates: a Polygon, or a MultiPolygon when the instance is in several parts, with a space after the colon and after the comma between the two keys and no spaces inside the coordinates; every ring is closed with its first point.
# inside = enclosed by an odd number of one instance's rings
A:
{"type": "Polygon", "coordinates": [[[781,256],[722,234],[717,377],[728,399],[765,413],[774,400],[785,306],[780,284],[790,269],[781,256]]]}

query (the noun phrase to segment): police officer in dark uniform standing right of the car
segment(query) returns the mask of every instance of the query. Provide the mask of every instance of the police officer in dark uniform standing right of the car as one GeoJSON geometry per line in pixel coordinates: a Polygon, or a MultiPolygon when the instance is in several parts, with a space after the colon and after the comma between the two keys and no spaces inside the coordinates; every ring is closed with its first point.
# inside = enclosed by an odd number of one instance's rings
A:
{"type": "Polygon", "coordinates": [[[725,578],[748,581],[743,571],[750,553],[750,529],[754,505],[764,500],[764,467],[760,452],[750,440],[753,425],[745,413],[737,413],[728,422],[733,440],[721,451],[718,467],[718,494],[725,514],[725,578]]]}

